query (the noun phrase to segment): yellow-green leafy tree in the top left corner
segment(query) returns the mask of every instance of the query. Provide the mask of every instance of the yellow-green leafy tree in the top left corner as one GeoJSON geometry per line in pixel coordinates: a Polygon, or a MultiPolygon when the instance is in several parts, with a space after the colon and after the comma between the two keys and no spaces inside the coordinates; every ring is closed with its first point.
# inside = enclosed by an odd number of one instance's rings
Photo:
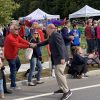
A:
{"type": "Polygon", "coordinates": [[[12,0],[0,0],[0,24],[7,24],[18,7],[19,5],[12,0]]]}

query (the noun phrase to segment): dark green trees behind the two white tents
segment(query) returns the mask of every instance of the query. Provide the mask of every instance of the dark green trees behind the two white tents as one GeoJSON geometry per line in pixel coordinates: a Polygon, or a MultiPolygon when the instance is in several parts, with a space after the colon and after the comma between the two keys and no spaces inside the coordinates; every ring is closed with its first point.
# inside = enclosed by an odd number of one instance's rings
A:
{"type": "Polygon", "coordinates": [[[23,17],[37,8],[49,14],[59,14],[61,18],[68,17],[69,14],[79,10],[85,5],[95,9],[100,9],[100,0],[15,0],[20,3],[20,9],[14,13],[14,18],[23,17]]]}

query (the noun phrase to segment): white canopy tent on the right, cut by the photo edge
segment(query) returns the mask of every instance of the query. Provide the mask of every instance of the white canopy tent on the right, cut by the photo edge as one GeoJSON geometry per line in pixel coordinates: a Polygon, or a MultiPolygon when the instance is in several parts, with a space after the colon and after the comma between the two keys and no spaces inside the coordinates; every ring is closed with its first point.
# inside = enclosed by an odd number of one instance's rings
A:
{"type": "Polygon", "coordinates": [[[84,6],[80,10],[69,14],[70,18],[78,18],[78,17],[91,17],[91,16],[100,16],[100,10],[96,10],[94,8],[89,7],[88,5],[84,6]]]}

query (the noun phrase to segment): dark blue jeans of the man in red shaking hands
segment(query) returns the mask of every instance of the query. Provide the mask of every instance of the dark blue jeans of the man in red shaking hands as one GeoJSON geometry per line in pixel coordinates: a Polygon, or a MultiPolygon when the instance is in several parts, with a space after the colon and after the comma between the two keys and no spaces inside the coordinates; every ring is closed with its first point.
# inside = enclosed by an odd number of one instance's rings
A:
{"type": "Polygon", "coordinates": [[[10,67],[11,87],[16,87],[16,73],[18,72],[21,63],[19,57],[12,60],[7,60],[10,67]]]}

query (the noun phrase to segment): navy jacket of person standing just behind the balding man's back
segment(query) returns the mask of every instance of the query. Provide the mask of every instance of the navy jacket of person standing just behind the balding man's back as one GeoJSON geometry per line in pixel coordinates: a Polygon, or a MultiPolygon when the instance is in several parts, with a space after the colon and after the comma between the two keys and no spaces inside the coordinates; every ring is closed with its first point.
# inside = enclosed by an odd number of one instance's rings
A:
{"type": "Polygon", "coordinates": [[[69,33],[68,33],[68,28],[67,27],[63,27],[61,29],[61,35],[62,35],[62,37],[64,39],[65,45],[66,46],[69,45],[71,39],[69,38],[69,33]]]}

